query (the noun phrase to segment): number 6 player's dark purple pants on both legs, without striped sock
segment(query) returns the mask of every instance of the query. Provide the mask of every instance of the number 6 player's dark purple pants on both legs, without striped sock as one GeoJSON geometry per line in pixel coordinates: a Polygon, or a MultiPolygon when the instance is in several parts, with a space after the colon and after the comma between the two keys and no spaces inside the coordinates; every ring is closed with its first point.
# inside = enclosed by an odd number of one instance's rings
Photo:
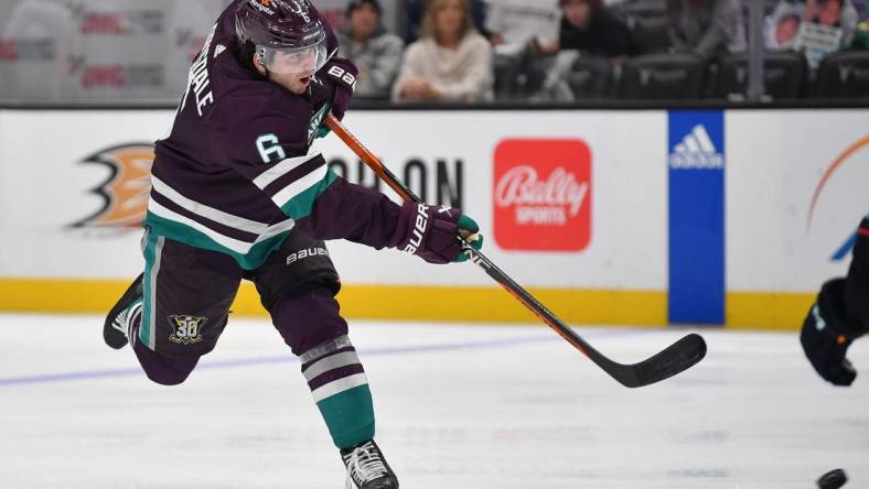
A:
{"type": "Polygon", "coordinates": [[[242,280],[250,280],[292,351],[347,334],[334,294],[340,282],[325,246],[300,231],[256,270],[244,270],[224,253],[146,233],[149,261],[142,319],[133,344],[148,377],[161,384],[183,382],[200,357],[214,349],[226,327],[242,280]],[[301,257],[301,258],[300,258],[301,257]]]}

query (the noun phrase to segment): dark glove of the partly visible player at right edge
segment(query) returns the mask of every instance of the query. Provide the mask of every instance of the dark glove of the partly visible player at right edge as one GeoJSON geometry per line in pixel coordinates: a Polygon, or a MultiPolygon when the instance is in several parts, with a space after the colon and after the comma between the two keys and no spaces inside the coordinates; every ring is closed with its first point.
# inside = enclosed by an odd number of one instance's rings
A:
{"type": "Polygon", "coordinates": [[[850,320],[845,311],[845,279],[825,283],[800,334],[800,343],[812,367],[827,382],[850,385],[857,372],[845,354],[851,341],[862,335],[862,328],[850,320]]]}

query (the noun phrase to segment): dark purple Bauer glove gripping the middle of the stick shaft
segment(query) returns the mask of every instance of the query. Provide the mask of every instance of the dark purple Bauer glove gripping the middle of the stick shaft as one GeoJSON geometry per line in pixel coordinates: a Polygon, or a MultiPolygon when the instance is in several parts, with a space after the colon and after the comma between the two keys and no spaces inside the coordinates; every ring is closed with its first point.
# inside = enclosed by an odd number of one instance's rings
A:
{"type": "Polygon", "coordinates": [[[476,222],[454,207],[407,202],[401,206],[389,246],[416,254],[429,263],[464,261],[468,257],[461,252],[459,238],[479,250],[483,246],[483,238],[478,232],[480,227],[476,222]]]}

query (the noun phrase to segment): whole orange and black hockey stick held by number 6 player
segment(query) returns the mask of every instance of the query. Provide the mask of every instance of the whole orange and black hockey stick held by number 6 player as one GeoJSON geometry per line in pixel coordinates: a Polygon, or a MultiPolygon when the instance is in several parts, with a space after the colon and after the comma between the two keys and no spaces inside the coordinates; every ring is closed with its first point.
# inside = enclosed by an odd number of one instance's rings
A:
{"type": "MultiPolygon", "coordinates": [[[[422,200],[414,194],[393,172],[387,169],[380,160],[366,149],[347,129],[332,116],[326,117],[326,126],[339,137],[342,141],[353,150],[356,155],[362,159],[384,182],[387,183],[401,198],[405,200],[412,200],[422,203],[422,200]]],[[[584,354],[598,367],[609,373],[610,377],[621,382],[629,388],[637,388],[659,382],[668,379],[684,370],[689,369],[691,366],[702,360],[706,356],[706,341],[697,334],[690,334],[666,349],[656,354],[654,357],[643,360],[639,363],[624,365],[615,362],[600,351],[596,350],[582,337],[577,335],[572,329],[561,323],[555,314],[546,308],[539,301],[534,298],[532,294],[517,284],[513,279],[507,276],[501,269],[495,267],[483,253],[471,248],[468,243],[463,243],[462,252],[468,256],[469,260],[476,263],[482,268],[489,276],[495,280],[501,286],[516,297],[521,303],[528,307],[537,317],[539,317],[547,326],[555,329],[556,333],[561,335],[569,344],[573,345],[579,351],[584,354]]]]}

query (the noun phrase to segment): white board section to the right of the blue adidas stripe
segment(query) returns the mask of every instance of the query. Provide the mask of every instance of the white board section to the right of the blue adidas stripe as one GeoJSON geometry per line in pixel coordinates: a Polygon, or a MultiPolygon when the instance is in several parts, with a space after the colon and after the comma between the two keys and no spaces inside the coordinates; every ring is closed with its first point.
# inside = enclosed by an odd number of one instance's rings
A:
{"type": "Polygon", "coordinates": [[[845,273],[848,260],[832,257],[869,214],[869,111],[737,111],[727,121],[729,286],[803,292],[845,273]]]}

